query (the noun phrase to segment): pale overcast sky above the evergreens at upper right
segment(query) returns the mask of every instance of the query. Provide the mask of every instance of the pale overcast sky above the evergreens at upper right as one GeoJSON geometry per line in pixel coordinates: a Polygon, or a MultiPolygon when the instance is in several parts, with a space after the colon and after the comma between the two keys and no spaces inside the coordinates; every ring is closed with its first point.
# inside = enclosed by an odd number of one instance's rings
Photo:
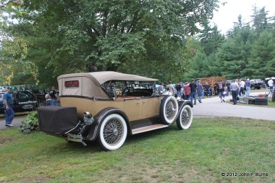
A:
{"type": "Polygon", "coordinates": [[[222,34],[233,27],[233,22],[238,21],[239,14],[241,14],[243,22],[250,22],[254,5],[258,9],[265,6],[265,10],[269,11],[269,16],[275,15],[275,0],[221,0],[221,2],[227,3],[220,5],[219,10],[214,12],[212,22],[217,24],[222,34]]]}

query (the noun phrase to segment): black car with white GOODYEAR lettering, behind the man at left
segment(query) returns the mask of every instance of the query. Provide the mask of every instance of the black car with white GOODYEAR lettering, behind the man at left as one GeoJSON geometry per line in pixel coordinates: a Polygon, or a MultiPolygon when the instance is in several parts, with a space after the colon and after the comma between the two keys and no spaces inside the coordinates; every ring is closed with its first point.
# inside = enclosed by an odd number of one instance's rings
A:
{"type": "MultiPolygon", "coordinates": [[[[0,114],[4,114],[3,108],[3,92],[0,93],[0,114]]],[[[15,91],[12,93],[12,109],[14,112],[27,112],[36,110],[37,108],[37,99],[29,91],[15,91]]]]}

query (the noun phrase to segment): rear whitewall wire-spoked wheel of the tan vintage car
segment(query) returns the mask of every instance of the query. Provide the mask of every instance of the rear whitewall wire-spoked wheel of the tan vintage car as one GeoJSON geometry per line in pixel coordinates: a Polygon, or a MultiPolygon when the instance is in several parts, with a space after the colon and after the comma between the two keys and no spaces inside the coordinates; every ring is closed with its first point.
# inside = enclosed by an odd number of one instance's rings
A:
{"type": "Polygon", "coordinates": [[[120,114],[109,114],[100,126],[98,140],[100,146],[111,151],[120,148],[127,136],[127,125],[125,119],[120,114]]]}

